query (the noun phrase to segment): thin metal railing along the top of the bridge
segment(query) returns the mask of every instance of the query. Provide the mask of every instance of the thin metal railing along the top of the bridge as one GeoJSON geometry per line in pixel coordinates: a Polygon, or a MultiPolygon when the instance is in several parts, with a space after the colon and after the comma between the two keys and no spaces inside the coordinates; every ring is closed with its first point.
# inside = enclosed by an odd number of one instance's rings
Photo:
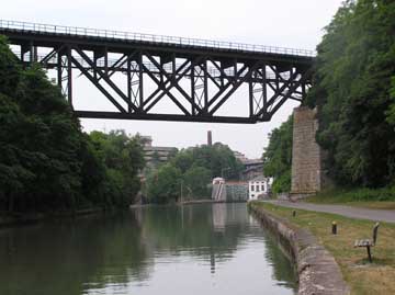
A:
{"type": "Polygon", "coordinates": [[[183,46],[198,46],[205,48],[233,49],[240,52],[272,53],[272,54],[282,54],[282,55],[291,55],[291,56],[314,57],[316,55],[314,50],[307,50],[307,49],[252,45],[246,43],[222,42],[222,41],[211,41],[211,39],[202,39],[202,38],[185,38],[185,37],[176,37],[176,36],[166,36],[166,35],[131,33],[131,32],[99,30],[99,29],[89,29],[89,27],[79,27],[79,26],[30,23],[30,22],[20,22],[20,21],[8,21],[8,20],[0,20],[0,27],[9,29],[9,30],[30,31],[30,32],[44,32],[44,33],[92,36],[92,37],[94,36],[94,37],[105,37],[105,38],[125,39],[125,41],[139,41],[139,42],[153,42],[153,43],[174,44],[174,45],[183,45],[183,46]]]}

